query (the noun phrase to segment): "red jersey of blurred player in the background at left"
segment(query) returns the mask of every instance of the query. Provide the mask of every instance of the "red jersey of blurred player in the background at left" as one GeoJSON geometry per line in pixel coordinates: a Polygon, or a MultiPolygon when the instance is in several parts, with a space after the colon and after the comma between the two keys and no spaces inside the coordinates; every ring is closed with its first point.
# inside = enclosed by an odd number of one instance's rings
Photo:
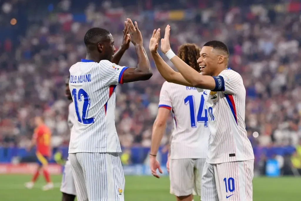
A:
{"type": "Polygon", "coordinates": [[[50,155],[51,130],[42,124],[35,129],[36,149],[43,156],[50,155]]]}

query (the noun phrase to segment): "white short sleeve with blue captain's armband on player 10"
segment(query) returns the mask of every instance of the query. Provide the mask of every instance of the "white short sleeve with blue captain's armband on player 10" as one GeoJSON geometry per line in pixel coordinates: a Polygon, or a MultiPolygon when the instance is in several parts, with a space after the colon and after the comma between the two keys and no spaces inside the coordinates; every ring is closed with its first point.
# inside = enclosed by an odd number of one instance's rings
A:
{"type": "Polygon", "coordinates": [[[226,94],[235,94],[242,78],[240,74],[232,70],[222,71],[218,76],[213,76],[215,80],[215,89],[212,91],[223,91],[226,94]]]}

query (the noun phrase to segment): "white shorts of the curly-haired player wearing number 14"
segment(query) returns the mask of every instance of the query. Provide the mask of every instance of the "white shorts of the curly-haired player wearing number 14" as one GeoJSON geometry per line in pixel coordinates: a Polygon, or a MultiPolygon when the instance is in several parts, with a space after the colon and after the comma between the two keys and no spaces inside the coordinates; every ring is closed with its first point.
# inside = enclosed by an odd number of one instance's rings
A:
{"type": "Polygon", "coordinates": [[[206,159],[170,159],[170,193],[175,196],[200,196],[205,161],[206,159]]]}

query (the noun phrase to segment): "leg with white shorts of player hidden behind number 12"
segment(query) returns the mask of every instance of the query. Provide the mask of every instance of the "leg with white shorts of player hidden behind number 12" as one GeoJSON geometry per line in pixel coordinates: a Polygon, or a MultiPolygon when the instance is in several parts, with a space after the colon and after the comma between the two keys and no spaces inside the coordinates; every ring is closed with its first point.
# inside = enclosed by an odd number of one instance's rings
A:
{"type": "Polygon", "coordinates": [[[64,166],[60,190],[63,193],[62,201],[73,201],[75,199],[76,189],[69,160],[66,161],[66,164],[64,166]]]}

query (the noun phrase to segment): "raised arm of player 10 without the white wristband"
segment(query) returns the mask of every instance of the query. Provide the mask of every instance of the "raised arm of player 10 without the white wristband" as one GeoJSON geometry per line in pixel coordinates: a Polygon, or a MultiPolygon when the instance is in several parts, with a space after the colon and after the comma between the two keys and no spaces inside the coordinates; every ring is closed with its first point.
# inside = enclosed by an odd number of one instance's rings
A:
{"type": "Polygon", "coordinates": [[[172,83],[181,84],[185,86],[193,86],[191,83],[186,81],[180,73],[175,72],[172,68],[170,68],[170,66],[166,64],[166,62],[162,59],[162,57],[157,52],[159,41],[160,41],[160,29],[158,29],[157,31],[154,30],[150,40],[149,50],[151,51],[151,55],[154,59],[155,65],[159,73],[162,75],[162,77],[167,82],[172,82],[172,83]]]}

